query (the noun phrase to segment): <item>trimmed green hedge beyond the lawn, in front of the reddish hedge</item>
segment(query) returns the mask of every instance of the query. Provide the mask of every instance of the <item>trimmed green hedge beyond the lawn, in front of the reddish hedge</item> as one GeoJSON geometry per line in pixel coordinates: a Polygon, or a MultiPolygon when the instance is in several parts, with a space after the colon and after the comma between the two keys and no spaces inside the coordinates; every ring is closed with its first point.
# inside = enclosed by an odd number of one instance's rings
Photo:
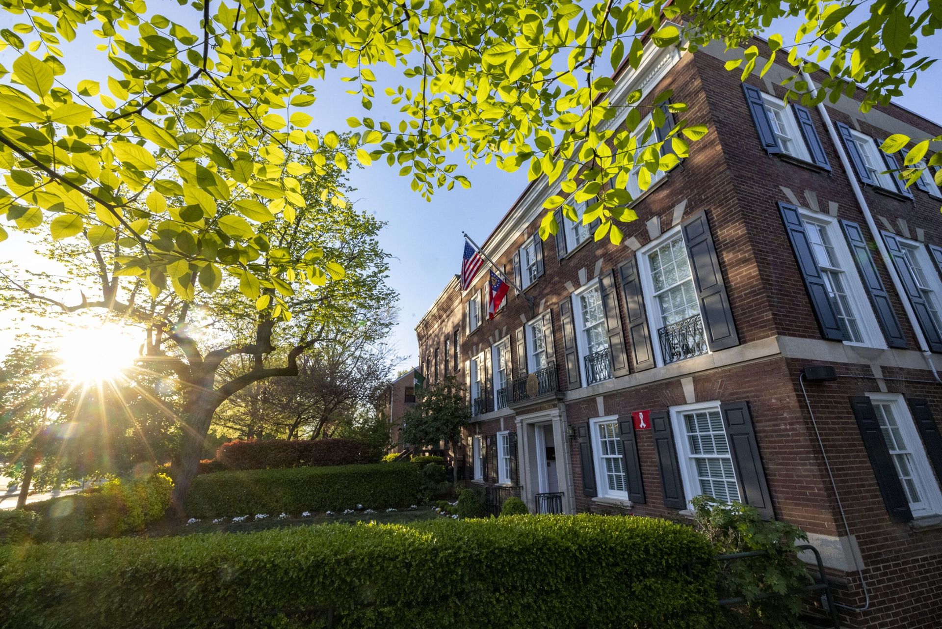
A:
{"type": "Polygon", "coordinates": [[[409,463],[216,472],[193,479],[187,515],[296,514],[356,505],[384,509],[412,505],[417,495],[418,472],[409,463]]]}

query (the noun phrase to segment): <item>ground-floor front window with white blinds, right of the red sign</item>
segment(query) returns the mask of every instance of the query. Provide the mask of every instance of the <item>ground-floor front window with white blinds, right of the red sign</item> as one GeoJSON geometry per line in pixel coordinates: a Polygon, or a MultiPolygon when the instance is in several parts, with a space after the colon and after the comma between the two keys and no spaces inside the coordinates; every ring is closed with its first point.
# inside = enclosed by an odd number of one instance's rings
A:
{"type": "Polygon", "coordinates": [[[701,494],[723,503],[739,502],[739,485],[720,404],[675,406],[671,415],[688,502],[701,494]]]}

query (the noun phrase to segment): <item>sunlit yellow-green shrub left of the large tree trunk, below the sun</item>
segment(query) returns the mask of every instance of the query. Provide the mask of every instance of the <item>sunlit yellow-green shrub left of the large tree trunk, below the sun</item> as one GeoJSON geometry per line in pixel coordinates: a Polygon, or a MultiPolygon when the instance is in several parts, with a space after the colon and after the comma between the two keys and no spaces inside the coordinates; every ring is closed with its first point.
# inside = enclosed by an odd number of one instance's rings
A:
{"type": "Polygon", "coordinates": [[[101,488],[26,505],[40,514],[36,538],[75,541],[116,538],[163,517],[171,505],[173,483],[165,474],[137,481],[108,481],[101,488]]]}

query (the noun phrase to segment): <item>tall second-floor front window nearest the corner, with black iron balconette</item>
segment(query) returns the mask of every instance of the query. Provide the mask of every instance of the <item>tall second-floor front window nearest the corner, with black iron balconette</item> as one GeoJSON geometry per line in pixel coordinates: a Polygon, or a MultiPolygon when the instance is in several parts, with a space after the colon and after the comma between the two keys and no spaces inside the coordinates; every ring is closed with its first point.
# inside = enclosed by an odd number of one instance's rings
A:
{"type": "Polygon", "coordinates": [[[659,364],[707,354],[700,300],[680,229],[644,247],[639,256],[652,341],[659,364]]]}

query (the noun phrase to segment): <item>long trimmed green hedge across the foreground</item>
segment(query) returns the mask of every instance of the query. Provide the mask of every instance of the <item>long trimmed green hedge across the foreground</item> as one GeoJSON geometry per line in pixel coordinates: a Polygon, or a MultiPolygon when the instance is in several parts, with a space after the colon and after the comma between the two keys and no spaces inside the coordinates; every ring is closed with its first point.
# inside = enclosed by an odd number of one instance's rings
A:
{"type": "Polygon", "coordinates": [[[712,555],[690,527],[593,515],[6,547],[0,623],[294,629],[331,606],[335,626],[363,629],[706,629],[712,555]],[[274,624],[274,610],[307,611],[274,624]]]}

